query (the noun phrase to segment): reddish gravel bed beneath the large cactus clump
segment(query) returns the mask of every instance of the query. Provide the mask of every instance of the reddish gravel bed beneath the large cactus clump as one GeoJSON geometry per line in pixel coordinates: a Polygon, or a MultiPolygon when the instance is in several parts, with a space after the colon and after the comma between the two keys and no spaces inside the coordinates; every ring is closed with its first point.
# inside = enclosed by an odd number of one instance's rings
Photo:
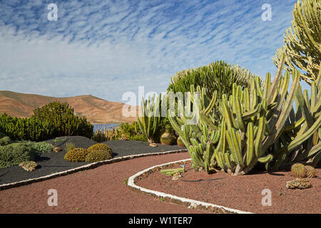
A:
{"type": "MultiPolygon", "coordinates": [[[[169,165],[162,168],[175,168],[169,165]]],[[[207,202],[223,207],[253,213],[321,213],[321,180],[310,179],[312,188],[290,190],[286,182],[293,180],[290,172],[253,172],[243,176],[231,176],[225,172],[208,175],[205,171],[195,171],[190,162],[185,162],[185,172],[178,180],[162,175],[161,168],[145,172],[136,177],[135,184],[148,190],[169,195],[207,202]],[[216,179],[217,180],[211,180],[216,179]],[[220,179],[222,178],[222,179],[220,179]],[[190,180],[196,180],[190,182],[190,180]],[[197,181],[203,180],[203,181],[197,181]],[[272,205],[263,206],[263,190],[272,192],[272,205]]],[[[320,177],[321,169],[316,169],[320,177]]],[[[183,204],[177,202],[178,204],[183,204]]],[[[199,208],[204,209],[204,208],[199,208]]]]}

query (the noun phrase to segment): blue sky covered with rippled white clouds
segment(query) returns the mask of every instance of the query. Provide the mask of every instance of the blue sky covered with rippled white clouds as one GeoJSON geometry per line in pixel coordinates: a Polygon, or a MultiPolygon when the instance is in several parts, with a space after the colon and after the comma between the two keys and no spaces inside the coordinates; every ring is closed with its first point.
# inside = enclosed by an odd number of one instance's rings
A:
{"type": "Polygon", "coordinates": [[[126,102],[127,91],[163,92],[177,71],[217,60],[264,78],[295,2],[0,0],[0,90],[126,102]]]}

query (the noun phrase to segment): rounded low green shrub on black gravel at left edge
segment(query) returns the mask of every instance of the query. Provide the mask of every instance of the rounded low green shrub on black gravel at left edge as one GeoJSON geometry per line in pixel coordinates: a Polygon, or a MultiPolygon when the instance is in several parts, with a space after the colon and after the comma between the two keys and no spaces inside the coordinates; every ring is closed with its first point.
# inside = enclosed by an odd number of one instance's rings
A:
{"type": "Polygon", "coordinates": [[[34,160],[34,151],[24,142],[0,146],[0,168],[34,160]]]}

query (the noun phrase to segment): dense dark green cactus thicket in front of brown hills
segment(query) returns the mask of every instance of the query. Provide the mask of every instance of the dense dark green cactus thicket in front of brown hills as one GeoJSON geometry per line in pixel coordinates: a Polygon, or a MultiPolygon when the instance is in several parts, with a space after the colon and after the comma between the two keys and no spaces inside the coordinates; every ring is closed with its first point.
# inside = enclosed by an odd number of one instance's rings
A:
{"type": "Polygon", "coordinates": [[[93,125],[73,114],[67,103],[49,103],[34,110],[31,118],[16,118],[3,113],[0,131],[13,140],[41,141],[65,135],[91,138],[93,125]]]}

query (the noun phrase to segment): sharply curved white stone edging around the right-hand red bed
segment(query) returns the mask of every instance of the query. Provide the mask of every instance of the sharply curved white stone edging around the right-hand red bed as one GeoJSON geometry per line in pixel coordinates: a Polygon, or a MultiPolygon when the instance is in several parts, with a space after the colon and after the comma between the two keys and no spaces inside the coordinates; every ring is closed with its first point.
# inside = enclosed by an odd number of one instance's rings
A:
{"type": "Polygon", "coordinates": [[[175,164],[178,162],[186,162],[189,161],[191,159],[185,159],[185,160],[178,160],[175,162],[168,162],[162,165],[155,165],[153,167],[149,167],[146,170],[143,170],[141,172],[137,172],[135,175],[131,176],[128,178],[128,183],[127,185],[129,187],[131,187],[132,190],[138,190],[138,192],[142,192],[143,194],[146,195],[151,195],[152,197],[156,197],[156,198],[162,198],[167,202],[171,202],[171,203],[175,203],[175,204],[182,204],[186,207],[190,207],[190,208],[194,208],[194,209],[205,209],[208,210],[210,209],[210,211],[212,212],[216,212],[216,213],[234,213],[234,214],[253,214],[252,212],[245,212],[245,211],[241,211],[238,209],[232,209],[232,208],[228,208],[228,207],[223,207],[220,205],[216,205],[216,204],[210,204],[208,202],[202,202],[202,201],[198,201],[198,200],[194,200],[194,199],[188,199],[188,198],[184,198],[184,197],[178,197],[175,195],[170,195],[167,194],[165,192],[158,192],[155,190],[148,190],[144,187],[140,187],[138,185],[135,184],[135,180],[137,177],[144,175],[146,172],[151,172],[151,170],[156,169],[158,167],[163,167],[166,165],[171,165],[171,164],[175,164]]]}

